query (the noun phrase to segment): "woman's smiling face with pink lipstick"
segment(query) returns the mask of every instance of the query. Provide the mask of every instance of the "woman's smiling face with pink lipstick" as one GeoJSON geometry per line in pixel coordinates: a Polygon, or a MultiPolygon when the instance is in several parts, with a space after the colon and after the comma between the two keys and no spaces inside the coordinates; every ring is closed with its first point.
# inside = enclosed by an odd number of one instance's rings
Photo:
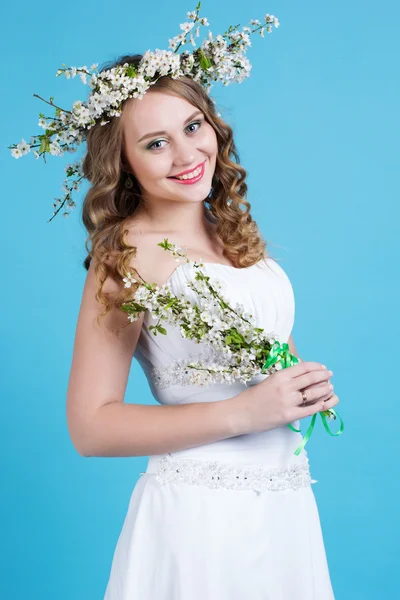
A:
{"type": "Polygon", "coordinates": [[[183,98],[148,91],[120,117],[130,170],[147,201],[200,202],[212,185],[218,146],[204,113],[183,98]],[[191,179],[177,179],[189,171],[191,179]]]}

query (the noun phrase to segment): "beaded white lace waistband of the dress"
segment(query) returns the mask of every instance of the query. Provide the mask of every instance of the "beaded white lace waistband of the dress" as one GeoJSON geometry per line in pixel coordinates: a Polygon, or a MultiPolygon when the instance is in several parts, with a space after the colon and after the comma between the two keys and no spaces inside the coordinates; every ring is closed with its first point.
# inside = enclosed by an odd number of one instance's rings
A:
{"type": "Polygon", "coordinates": [[[174,458],[171,454],[162,456],[154,463],[155,458],[150,457],[152,465],[147,473],[154,474],[161,484],[182,482],[209,488],[281,491],[297,490],[317,482],[311,479],[308,461],[285,468],[270,468],[217,460],[174,458]]]}

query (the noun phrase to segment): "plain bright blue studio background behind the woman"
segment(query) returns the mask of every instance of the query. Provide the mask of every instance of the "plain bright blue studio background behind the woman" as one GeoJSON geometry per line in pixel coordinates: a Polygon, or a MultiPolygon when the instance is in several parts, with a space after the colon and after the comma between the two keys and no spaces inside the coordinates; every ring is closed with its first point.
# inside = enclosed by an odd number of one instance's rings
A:
{"type": "MultiPolygon", "coordinates": [[[[85,98],[67,66],[167,48],[192,4],[9,3],[1,24],[2,535],[4,600],[100,600],[146,457],[77,454],[65,416],[86,271],[78,209],[51,223],[78,156],[11,157],[39,133],[33,98],[85,98]],[[168,5],[169,4],[169,5],[168,5]],[[7,57],[7,58],[6,58],[7,57]]],[[[203,2],[214,34],[276,15],[253,36],[252,77],[215,86],[248,199],[295,291],[304,360],[334,371],[345,432],[307,445],[337,600],[398,597],[400,8],[383,0],[203,2]]],[[[202,28],[202,37],[208,28],[202,28]]],[[[76,197],[80,209],[85,188],[76,197]]],[[[127,402],[155,403],[136,362],[127,402]]],[[[302,421],[302,429],[308,426],[302,421]]],[[[335,425],[335,424],[334,424],[335,425]]]]}

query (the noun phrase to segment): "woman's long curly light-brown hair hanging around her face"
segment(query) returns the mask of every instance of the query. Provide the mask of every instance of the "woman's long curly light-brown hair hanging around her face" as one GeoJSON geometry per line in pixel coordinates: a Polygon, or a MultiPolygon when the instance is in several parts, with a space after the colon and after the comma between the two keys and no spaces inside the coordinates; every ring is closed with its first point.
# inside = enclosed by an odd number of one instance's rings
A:
{"type": "MultiPolygon", "coordinates": [[[[101,70],[124,63],[137,67],[141,58],[140,54],[125,55],[104,65],[101,70]]],[[[245,198],[246,171],[239,164],[232,128],[217,116],[214,102],[206,90],[190,77],[172,79],[163,76],[146,93],[151,93],[153,89],[184,98],[201,110],[206,121],[214,128],[218,153],[212,180],[213,192],[205,201],[217,220],[216,233],[224,246],[223,255],[237,268],[249,267],[267,258],[266,243],[250,215],[250,204],[245,198]]],[[[125,235],[128,233],[127,221],[132,218],[142,197],[138,182],[129,173],[129,166],[124,159],[120,117],[111,117],[106,125],[96,123],[89,129],[86,142],[83,173],[91,187],[82,206],[82,221],[88,233],[85,241],[87,256],[83,266],[88,270],[94,259],[96,299],[104,307],[97,317],[99,323],[99,318],[113,307],[120,309],[136,289],[135,286],[125,288],[122,279],[129,271],[135,273],[131,259],[136,255],[137,248],[126,242],[125,235]],[[131,188],[125,186],[128,174],[133,180],[131,188]],[[117,284],[118,293],[111,295],[104,292],[108,277],[117,284]]],[[[129,324],[128,319],[126,324],[129,324]]]]}

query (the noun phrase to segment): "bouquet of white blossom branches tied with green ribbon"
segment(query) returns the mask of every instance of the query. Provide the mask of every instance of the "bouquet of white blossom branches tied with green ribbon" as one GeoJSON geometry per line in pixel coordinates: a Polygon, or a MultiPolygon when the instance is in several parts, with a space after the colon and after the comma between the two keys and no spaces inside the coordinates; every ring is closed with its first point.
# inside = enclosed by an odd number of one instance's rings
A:
{"type": "MultiPolygon", "coordinates": [[[[126,288],[138,283],[139,286],[132,299],[122,305],[122,310],[128,313],[128,319],[133,322],[139,315],[148,310],[157,317],[157,323],[150,325],[149,330],[154,335],[167,335],[163,324],[179,326],[181,336],[189,338],[196,343],[205,343],[211,347],[218,362],[205,365],[203,362],[189,362],[185,369],[189,369],[189,380],[197,385],[209,385],[215,382],[234,383],[240,380],[245,385],[254,376],[272,373],[297,364],[300,360],[289,351],[287,343],[280,343],[278,336],[270,332],[264,333],[262,328],[256,327],[253,315],[245,311],[245,307],[236,304],[231,307],[221,294],[222,284],[218,280],[210,282],[210,277],[201,271],[204,266],[201,262],[191,261],[185,251],[171,244],[168,239],[157,244],[166,251],[172,252],[180,259],[191,263],[196,270],[193,280],[186,285],[196,293],[197,303],[192,303],[184,294],[179,296],[171,293],[168,282],[162,287],[155,283],[150,284],[137,280],[132,273],[126,273],[123,278],[126,288]]],[[[323,424],[330,435],[339,435],[343,431],[343,421],[339,432],[333,434],[328,427],[326,418],[336,419],[338,413],[330,408],[321,411],[323,424]]],[[[312,417],[311,425],[295,454],[304,448],[314,428],[317,415],[312,417]]],[[[292,431],[300,432],[288,424],[292,431]]]]}

